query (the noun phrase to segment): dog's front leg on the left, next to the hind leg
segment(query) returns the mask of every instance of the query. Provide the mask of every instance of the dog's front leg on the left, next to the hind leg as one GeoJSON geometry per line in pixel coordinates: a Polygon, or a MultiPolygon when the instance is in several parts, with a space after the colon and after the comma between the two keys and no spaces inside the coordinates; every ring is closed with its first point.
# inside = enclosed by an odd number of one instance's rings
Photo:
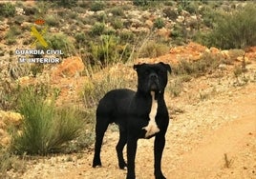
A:
{"type": "Polygon", "coordinates": [[[135,179],[135,156],[137,150],[137,138],[127,140],[127,175],[126,179],[135,179]]]}

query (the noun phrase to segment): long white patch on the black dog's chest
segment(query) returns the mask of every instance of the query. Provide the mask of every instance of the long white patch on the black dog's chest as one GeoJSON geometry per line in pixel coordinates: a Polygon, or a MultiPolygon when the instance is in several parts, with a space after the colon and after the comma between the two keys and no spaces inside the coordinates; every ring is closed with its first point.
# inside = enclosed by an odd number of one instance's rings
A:
{"type": "Polygon", "coordinates": [[[157,112],[158,112],[158,100],[155,99],[154,91],[151,91],[151,96],[152,96],[152,106],[151,106],[151,110],[149,113],[149,122],[146,127],[142,128],[147,131],[145,134],[146,138],[160,131],[160,129],[156,123],[156,120],[155,120],[157,112]]]}

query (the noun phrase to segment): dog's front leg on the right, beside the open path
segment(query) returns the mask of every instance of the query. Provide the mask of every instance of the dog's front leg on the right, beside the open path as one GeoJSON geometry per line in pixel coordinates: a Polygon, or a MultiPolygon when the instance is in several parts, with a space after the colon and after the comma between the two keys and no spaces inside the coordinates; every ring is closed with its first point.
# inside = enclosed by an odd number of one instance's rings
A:
{"type": "Polygon", "coordinates": [[[163,133],[158,133],[155,138],[154,156],[155,156],[155,177],[156,179],[165,179],[161,172],[161,156],[165,145],[165,136],[163,133]]]}

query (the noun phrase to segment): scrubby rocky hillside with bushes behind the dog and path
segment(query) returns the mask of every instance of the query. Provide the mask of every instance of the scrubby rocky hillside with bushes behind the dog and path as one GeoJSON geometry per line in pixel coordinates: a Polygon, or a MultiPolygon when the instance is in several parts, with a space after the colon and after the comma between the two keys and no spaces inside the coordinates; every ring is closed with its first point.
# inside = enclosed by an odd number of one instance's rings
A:
{"type": "MultiPolygon", "coordinates": [[[[0,178],[22,176],[38,156],[90,158],[97,102],[110,89],[137,88],[133,64],[171,65],[165,97],[175,119],[229,90],[254,89],[255,16],[251,1],[0,2],[0,178]],[[17,50],[31,49],[63,53],[51,54],[59,64],[19,63],[17,50]]],[[[116,139],[117,127],[110,132],[116,139]]]]}

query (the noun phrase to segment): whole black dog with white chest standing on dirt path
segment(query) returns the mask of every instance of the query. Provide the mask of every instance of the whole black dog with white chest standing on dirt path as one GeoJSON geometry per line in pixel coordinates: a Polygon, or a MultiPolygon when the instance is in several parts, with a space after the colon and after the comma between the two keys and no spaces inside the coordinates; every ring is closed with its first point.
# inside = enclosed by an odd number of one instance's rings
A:
{"type": "Polygon", "coordinates": [[[114,89],[105,94],[96,109],[96,146],[93,167],[101,166],[100,149],[108,125],[119,127],[117,157],[120,169],[127,167],[127,179],[135,178],[135,156],[139,138],[155,138],[155,177],[165,178],[160,169],[165,132],[169,115],[163,93],[167,84],[167,64],[135,65],[138,73],[138,90],[114,89]],[[127,165],[122,150],[127,144],[127,165]]]}

